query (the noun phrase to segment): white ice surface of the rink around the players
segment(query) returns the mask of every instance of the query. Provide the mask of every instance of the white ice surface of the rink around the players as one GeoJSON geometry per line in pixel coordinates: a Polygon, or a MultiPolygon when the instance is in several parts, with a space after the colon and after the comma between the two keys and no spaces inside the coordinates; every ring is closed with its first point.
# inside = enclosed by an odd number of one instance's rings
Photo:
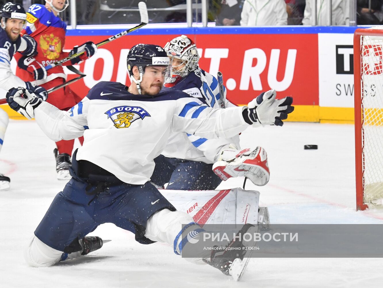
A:
{"type": "MultiPolygon", "coordinates": [[[[383,224],[379,210],[355,211],[354,126],[285,123],[248,128],[242,147],[263,146],[270,182],[260,191],[270,221],[283,224],[383,224]],[[304,150],[317,144],[318,150],[304,150]]],[[[66,181],[56,180],[55,145],[36,122],[11,120],[0,172],[11,190],[0,193],[0,287],[380,287],[381,258],[254,258],[238,283],[210,266],[193,265],[164,244],[141,245],[113,224],[91,235],[112,241],[54,267],[28,267],[23,248],[66,181]]],[[[242,187],[243,178],[219,188],[242,187]]]]}

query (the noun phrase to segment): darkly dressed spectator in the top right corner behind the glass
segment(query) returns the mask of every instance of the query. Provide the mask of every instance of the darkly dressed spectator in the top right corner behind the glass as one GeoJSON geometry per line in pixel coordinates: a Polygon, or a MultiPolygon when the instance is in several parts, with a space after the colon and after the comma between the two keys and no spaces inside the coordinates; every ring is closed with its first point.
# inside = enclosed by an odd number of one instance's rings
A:
{"type": "Polygon", "coordinates": [[[357,25],[381,25],[383,0],[357,0],[357,25]]]}

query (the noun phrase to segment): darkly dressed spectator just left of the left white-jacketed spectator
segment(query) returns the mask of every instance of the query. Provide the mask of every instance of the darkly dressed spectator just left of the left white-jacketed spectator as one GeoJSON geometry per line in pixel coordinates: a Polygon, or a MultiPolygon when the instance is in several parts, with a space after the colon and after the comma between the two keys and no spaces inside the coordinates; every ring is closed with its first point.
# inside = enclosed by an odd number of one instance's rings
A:
{"type": "Polygon", "coordinates": [[[239,26],[244,2],[244,0],[223,0],[216,25],[239,26]]]}

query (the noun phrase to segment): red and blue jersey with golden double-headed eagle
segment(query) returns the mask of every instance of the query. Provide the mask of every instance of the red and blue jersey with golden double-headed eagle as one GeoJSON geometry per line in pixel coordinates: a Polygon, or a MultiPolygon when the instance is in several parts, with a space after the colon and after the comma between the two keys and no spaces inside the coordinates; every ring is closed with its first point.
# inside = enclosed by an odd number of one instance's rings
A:
{"type": "MultiPolygon", "coordinates": [[[[49,12],[43,5],[35,4],[29,7],[27,26],[22,34],[28,34],[36,40],[38,54],[35,58],[46,66],[63,58],[66,28],[67,25],[59,16],[49,12]]],[[[63,73],[63,68],[56,66],[48,73],[63,73]]]]}

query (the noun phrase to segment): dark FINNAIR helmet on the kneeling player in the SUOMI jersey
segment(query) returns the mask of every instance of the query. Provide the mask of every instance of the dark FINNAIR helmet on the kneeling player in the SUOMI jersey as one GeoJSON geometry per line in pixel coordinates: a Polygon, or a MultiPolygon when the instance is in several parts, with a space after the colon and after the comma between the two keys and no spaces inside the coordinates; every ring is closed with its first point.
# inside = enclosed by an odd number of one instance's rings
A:
{"type": "Polygon", "coordinates": [[[133,74],[133,66],[137,66],[140,72],[144,72],[146,66],[169,66],[169,58],[164,48],[160,45],[152,44],[137,44],[133,46],[128,53],[126,62],[129,76],[133,74]]]}

